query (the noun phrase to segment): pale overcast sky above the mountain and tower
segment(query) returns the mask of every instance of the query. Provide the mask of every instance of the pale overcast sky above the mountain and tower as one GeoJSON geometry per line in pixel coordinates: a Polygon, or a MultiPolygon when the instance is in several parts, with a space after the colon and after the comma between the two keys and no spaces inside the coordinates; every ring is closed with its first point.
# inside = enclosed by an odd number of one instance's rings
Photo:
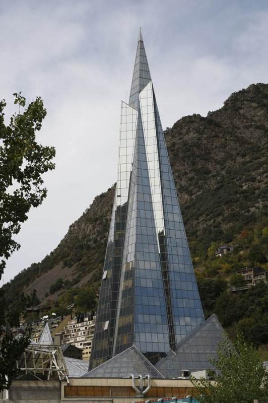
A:
{"type": "Polygon", "coordinates": [[[48,196],[23,224],[5,282],[55,249],[115,182],[140,26],[164,128],[268,81],[266,0],[0,0],[0,98],[8,115],[14,92],[40,95],[38,141],[56,147],[48,196]]]}

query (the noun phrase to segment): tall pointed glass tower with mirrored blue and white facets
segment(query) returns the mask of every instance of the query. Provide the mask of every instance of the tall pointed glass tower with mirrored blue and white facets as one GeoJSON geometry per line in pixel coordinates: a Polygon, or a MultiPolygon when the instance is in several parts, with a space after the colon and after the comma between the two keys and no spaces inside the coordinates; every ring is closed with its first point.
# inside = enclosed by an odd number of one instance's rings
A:
{"type": "Polygon", "coordinates": [[[140,32],[90,369],[135,345],[153,364],[204,321],[140,32]]]}

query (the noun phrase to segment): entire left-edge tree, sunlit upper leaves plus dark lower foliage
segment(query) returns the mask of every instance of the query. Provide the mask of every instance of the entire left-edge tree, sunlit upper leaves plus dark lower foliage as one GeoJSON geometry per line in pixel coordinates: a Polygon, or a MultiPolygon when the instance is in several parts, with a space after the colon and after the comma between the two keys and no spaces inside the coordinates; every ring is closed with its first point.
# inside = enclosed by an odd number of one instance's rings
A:
{"type": "MultiPolygon", "coordinates": [[[[37,97],[26,108],[26,99],[14,94],[19,112],[5,124],[5,100],[0,101],[0,279],[6,260],[20,248],[14,236],[28,218],[31,207],[38,207],[46,197],[42,174],[54,169],[51,161],[54,147],[42,146],[36,141],[46,115],[43,101],[37,97]],[[22,110],[22,111],[21,111],[22,110]]],[[[11,326],[19,325],[20,314],[29,298],[21,296],[6,306],[3,289],[0,290],[0,390],[8,388],[18,373],[16,360],[29,344],[25,331],[14,338],[11,326]]]]}

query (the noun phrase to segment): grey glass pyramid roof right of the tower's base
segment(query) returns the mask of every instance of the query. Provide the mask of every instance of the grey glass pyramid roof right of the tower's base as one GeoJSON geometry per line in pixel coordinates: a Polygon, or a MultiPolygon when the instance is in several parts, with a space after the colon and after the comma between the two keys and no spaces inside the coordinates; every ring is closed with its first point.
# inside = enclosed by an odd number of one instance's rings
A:
{"type": "Polygon", "coordinates": [[[178,378],[182,370],[213,369],[209,357],[217,357],[218,344],[224,337],[224,329],[213,314],[177,344],[175,353],[170,351],[162,358],[156,368],[165,378],[178,378]]]}

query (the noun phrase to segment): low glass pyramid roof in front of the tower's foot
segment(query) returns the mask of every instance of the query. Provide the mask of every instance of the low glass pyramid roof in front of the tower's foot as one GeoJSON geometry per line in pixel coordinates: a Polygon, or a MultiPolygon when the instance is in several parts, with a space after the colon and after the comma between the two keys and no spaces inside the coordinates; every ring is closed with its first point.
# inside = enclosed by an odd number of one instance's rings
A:
{"type": "Polygon", "coordinates": [[[131,346],[110,360],[89,371],[82,378],[124,378],[131,374],[150,375],[163,379],[164,376],[147,360],[135,346],[131,346]]]}

